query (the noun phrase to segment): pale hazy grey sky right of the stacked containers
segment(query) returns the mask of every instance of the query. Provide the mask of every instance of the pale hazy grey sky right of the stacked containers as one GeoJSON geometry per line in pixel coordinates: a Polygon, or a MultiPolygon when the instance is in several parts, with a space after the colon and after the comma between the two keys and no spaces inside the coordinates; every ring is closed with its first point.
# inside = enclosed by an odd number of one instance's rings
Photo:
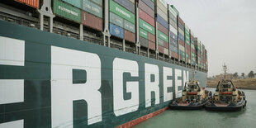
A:
{"type": "Polygon", "coordinates": [[[167,0],[208,51],[208,76],[256,72],[256,0],[167,0]]]}

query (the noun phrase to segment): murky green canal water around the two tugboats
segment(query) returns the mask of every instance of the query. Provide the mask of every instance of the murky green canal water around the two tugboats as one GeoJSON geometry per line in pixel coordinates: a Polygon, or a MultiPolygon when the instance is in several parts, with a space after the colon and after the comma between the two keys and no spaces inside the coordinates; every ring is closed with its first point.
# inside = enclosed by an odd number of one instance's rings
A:
{"type": "MultiPolygon", "coordinates": [[[[215,92],[215,88],[207,88],[215,92]]],[[[256,90],[243,90],[247,106],[242,111],[167,110],[140,123],[135,128],[255,128],[256,90]]]]}

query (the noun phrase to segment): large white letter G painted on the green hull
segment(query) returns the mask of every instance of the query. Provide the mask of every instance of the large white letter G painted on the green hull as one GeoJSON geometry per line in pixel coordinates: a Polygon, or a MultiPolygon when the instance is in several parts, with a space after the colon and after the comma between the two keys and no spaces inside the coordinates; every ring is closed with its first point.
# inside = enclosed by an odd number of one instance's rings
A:
{"type": "Polygon", "coordinates": [[[130,73],[130,77],[139,77],[139,65],[128,59],[114,59],[113,62],[113,98],[116,116],[125,115],[139,108],[139,82],[126,82],[126,92],[130,92],[130,99],[124,99],[123,74],[130,73]],[[127,66],[129,65],[129,66],[127,66]]]}

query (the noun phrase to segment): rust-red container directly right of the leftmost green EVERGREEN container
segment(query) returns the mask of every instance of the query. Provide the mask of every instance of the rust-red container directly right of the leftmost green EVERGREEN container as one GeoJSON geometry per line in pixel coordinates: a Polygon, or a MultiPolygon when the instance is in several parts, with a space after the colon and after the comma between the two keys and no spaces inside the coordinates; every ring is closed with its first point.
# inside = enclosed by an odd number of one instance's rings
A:
{"type": "Polygon", "coordinates": [[[88,12],[82,12],[82,23],[85,26],[92,27],[98,31],[102,31],[102,19],[88,12]]]}

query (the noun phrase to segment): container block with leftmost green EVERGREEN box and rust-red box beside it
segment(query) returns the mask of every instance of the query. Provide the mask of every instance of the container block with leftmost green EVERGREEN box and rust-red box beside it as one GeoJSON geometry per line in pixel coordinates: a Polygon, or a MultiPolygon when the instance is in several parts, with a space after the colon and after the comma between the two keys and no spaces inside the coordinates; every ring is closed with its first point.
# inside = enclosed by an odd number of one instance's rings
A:
{"type": "Polygon", "coordinates": [[[102,31],[102,0],[54,0],[54,13],[102,31]]]}

